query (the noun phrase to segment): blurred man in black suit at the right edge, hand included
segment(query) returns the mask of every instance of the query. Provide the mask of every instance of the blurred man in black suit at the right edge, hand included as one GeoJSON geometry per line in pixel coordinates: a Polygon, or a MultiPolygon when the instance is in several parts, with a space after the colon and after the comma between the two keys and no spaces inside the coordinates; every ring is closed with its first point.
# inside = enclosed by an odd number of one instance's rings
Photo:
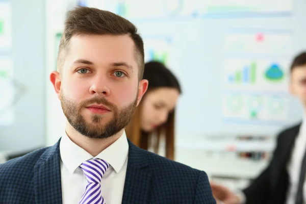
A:
{"type": "MultiPolygon", "coordinates": [[[[306,110],[306,53],[291,65],[290,91],[306,110]]],[[[226,204],[306,203],[306,111],[302,121],[277,136],[276,148],[267,168],[242,192],[211,183],[215,198],[226,204]]]]}

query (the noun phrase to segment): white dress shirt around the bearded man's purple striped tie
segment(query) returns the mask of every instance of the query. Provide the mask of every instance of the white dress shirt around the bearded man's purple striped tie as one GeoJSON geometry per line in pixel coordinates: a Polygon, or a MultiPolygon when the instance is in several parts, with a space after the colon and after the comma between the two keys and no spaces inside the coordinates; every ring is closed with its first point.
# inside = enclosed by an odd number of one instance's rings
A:
{"type": "Polygon", "coordinates": [[[79,166],[92,158],[103,159],[110,164],[101,181],[101,192],[106,203],[120,204],[128,153],[129,144],[125,133],[96,157],[91,156],[83,148],[73,143],[65,133],[60,142],[63,204],[78,204],[80,202],[85,192],[87,179],[79,166]]]}

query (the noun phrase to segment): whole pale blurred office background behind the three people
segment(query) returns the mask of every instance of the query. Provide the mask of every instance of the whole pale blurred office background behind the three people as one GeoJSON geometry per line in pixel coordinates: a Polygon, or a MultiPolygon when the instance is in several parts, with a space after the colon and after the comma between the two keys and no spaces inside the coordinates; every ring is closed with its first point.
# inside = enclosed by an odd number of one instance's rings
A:
{"type": "Polygon", "coordinates": [[[145,60],[180,79],[176,161],[244,187],[276,134],[301,120],[288,91],[306,49],[304,0],[0,0],[0,162],[53,145],[65,120],[51,83],[66,12],[110,10],[135,23],[145,60]]]}

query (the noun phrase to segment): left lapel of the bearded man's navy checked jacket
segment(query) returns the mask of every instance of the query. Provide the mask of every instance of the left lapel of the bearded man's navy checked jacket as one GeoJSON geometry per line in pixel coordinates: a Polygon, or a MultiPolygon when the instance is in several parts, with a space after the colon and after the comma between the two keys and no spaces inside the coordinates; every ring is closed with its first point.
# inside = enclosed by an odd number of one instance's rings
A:
{"type": "Polygon", "coordinates": [[[60,141],[49,147],[34,167],[36,203],[62,203],[60,141]]]}

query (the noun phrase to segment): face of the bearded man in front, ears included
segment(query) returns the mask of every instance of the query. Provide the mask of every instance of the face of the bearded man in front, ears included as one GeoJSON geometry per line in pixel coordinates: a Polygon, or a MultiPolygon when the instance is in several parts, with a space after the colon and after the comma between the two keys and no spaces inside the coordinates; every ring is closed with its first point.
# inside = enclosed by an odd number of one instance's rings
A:
{"type": "Polygon", "coordinates": [[[146,90],[147,82],[139,83],[138,71],[129,36],[73,36],[53,83],[56,90],[59,86],[71,126],[90,138],[107,138],[122,130],[146,90]]]}

